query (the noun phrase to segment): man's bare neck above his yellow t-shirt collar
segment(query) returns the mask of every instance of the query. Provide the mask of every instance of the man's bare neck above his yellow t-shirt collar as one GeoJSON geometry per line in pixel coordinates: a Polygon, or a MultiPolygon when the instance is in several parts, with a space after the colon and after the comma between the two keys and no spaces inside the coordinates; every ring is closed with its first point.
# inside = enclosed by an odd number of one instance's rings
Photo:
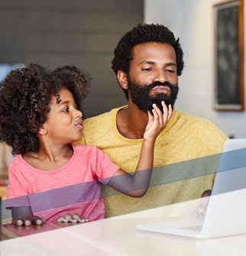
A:
{"type": "Polygon", "coordinates": [[[118,132],[125,138],[143,138],[147,125],[147,113],[138,109],[131,101],[127,109],[121,109],[116,115],[118,132]]]}

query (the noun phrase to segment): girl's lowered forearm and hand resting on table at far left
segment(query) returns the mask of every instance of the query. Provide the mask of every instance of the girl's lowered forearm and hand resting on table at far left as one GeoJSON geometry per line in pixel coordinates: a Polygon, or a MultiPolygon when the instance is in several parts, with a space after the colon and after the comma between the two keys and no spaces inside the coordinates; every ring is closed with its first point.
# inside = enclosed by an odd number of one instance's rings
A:
{"type": "Polygon", "coordinates": [[[30,206],[12,207],[12,222],[8,224],[15,225],[41,225],[45,222],[45,219],[40,219],[38,216],[34,216],[30,206]]]}

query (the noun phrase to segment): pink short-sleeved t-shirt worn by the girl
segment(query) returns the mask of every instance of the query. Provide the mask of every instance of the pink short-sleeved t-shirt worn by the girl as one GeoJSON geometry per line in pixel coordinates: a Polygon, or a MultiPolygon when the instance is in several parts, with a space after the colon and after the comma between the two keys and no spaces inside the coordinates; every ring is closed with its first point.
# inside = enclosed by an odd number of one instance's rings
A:
{"type": "Polygon", "coordinates": [[[95,146],[73,145],[73,157],[56,170],[38,170],[18,155],[8,171],[6,208],[31,206],[34,215],[50,222],[66,213],[103,219],[101,183],[108,183],[118,169],[95,146]]]}

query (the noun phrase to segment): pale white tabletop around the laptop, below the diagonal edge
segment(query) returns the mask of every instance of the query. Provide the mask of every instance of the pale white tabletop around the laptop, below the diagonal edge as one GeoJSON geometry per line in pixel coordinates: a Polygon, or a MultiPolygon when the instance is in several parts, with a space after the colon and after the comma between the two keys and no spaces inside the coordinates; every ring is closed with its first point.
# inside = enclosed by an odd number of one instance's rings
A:
{"type": "Polygon", "coordinates": [[[246,255],[246,235],[198,240],[141,232],[135,225],[189,217],[193,200],[0,242],[1,255],[246,255]]]}

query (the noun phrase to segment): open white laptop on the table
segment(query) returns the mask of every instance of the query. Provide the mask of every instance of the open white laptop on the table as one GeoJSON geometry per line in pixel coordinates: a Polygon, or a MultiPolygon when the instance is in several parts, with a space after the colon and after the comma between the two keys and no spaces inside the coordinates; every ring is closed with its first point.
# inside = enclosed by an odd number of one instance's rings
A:
{"type": "Polygon", "coordinates": [[[154,222],[136,228],[200,239],[246,233],[246,138],[225,142],[208,199],[202,219],[154,222]]]}

